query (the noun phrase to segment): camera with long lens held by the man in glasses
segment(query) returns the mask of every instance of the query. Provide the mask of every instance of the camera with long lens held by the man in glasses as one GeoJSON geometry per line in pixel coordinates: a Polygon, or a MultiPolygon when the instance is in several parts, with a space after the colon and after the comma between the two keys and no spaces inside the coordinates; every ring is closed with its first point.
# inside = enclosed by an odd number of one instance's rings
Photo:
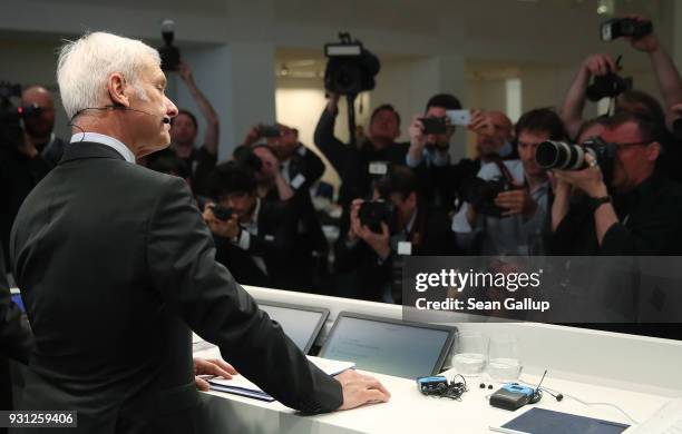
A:
{"type": "Polygon", "coordinates": [[[582,146],[546,140],[537,146],[535,161],[546,170],[582,170],[587,167],[585,154],[591,154],[602,170],[604,183],[608,185],[616,152],[617,145],[608,144],[600,137],[591,137],[582,146]]]}

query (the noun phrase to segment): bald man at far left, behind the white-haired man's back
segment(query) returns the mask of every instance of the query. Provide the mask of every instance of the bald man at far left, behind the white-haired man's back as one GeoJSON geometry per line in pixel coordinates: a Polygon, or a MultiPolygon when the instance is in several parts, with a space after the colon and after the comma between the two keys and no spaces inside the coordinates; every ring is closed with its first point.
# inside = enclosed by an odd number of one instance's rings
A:
{"type": "MultiPolygon", "coordinates": [[[[29,154],[40,154],[51,166],[61,159],[66,142],[55,136],[55,98],[41,86],[31,86],[21,95],[21,106],[31,107],[23,117],[23,131],[29,154]],[[32,114],[32,115],[31,115],[32,114]]],[[[27,111],[25,111],[27,112],[27,111]]]]}

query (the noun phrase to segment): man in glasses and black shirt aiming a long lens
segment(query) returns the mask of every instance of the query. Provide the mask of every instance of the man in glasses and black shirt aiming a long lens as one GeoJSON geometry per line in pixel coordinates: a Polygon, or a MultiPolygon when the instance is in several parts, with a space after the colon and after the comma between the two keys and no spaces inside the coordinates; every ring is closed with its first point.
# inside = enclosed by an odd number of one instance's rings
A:
{"type": "MultiPolygon", "coordinates": [[[[682,186],[655,171],[660,124],[630,112],[598,122],[601,138],[616,148],[613,175],[597,160],[587,168],[555,170],[553,253],[561,255],[675,255],[682,246],[682,186]],[[583,193],[572,201],[573,187],[583,193]]],[[[608,161],[603,161],[604,164],[608,161]]]]}

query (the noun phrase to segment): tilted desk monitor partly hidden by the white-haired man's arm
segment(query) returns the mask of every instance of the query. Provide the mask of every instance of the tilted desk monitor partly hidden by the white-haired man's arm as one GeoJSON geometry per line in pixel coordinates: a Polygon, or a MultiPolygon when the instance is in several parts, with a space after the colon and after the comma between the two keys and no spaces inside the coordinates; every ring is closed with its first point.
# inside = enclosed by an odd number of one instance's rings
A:
{"type": "Polygon", "coordinates": [[[280,323],[294,344],[308,354],[324,326],[329,309],[285,303],[257,300],[259,307],[280,323]]]}

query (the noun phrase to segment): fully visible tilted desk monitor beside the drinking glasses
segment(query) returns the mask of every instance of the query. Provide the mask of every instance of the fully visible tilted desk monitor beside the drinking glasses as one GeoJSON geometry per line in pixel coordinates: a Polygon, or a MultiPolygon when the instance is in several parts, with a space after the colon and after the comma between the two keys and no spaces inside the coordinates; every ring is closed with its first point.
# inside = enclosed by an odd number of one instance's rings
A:
{"type": "Polygon", "coordinates": [[[442,369],[456,332],[456,327],[342,312],[320,357],[354,362],[360,369],[415,379],[442,369]]]}

